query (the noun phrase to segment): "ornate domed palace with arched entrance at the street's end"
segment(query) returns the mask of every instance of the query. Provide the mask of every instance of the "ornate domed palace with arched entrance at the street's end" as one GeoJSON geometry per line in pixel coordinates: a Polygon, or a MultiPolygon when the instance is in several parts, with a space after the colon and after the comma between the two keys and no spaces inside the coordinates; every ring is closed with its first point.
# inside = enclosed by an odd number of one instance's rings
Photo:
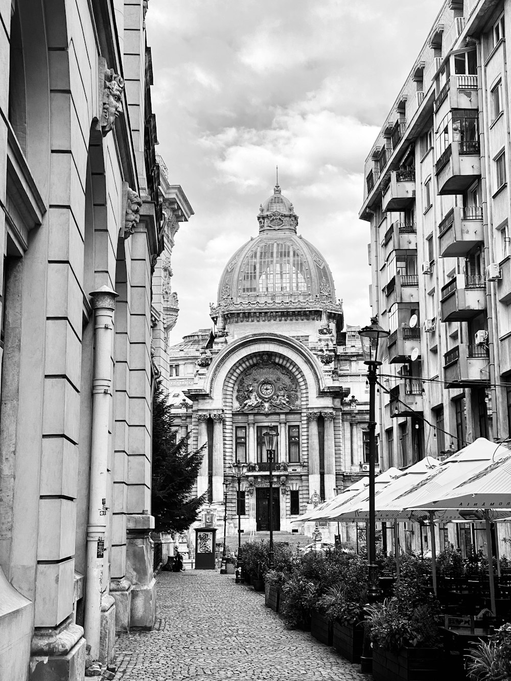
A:
{"type": "Polygon", "coordinates": [[[356,328],[344,330],[330,268],[297,234],[298,215],[278,184],[258,223],[258,236],[223,270],[213,332],[169,349],[170,394],[184,392],[192,403],[176,404],[174,425],[181,434],[191,429],[193,449],[206,445],[196,491],[208,493],[219,537],[223,481],[232,481],[236,462],[246,472],[239,498],[234,484],[228,492],[227,532],[237,532],[238,510],[245,536],[269,528],[266,430],[278,435],[274,530],[303,532],[292,520],[367,468],[366,370],[356,328]]]}

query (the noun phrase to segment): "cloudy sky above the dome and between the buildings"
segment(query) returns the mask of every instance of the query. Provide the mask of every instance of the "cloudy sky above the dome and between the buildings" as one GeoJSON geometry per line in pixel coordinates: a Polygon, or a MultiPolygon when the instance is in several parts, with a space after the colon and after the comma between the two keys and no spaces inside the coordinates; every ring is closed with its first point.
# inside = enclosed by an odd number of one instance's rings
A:
{"type": "Polygon", "coordinates": [[[442,0],[151,0],[151,89],[171,184],[195,215],[172,252],[170,344],[211,328],[230,256],[282,193],[326,257],[345,323],[369,323],[364,162],[442,0]]]}

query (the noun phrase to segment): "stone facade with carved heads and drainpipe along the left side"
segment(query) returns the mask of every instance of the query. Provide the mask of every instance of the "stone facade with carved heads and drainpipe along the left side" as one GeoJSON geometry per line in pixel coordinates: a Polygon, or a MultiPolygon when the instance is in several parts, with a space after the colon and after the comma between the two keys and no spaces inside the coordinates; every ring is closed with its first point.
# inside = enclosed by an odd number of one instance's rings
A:
{"type": "Polygon", "coordinates": [[[151,262],[163,239],[151,51],[146,2],[105,7],[0,1],[0,678],[10,681],[81,680],[86,644],[110,661],[116,625],[155,618],[151,262]]]}

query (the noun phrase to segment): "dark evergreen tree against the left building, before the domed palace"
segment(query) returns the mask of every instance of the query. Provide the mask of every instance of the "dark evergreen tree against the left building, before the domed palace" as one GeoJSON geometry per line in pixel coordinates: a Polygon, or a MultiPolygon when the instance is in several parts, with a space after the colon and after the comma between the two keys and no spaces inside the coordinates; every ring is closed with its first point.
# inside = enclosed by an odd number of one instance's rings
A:
{"type": "MultiPolygon", "coordinates": [[[[206,494],[189,498],[204,456],[204,447],[187,452],[187,437],[176,439],[167,393],[158,381],[153,398],[153,489],[155,529],[181,533],[198,520],[206,494]]],[[[204,445],[205,446],[205,445],[204,445]]]]}

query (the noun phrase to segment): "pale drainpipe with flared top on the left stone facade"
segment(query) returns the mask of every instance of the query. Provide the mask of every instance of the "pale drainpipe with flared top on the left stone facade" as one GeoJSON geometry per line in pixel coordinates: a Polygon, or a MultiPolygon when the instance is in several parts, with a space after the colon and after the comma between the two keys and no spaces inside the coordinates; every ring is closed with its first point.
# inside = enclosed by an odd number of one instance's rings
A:
{"type": "Polygon", "coordinates": [[[108,422],[112,402],[112,336],[115,299],[118,294],[107,286],[102,286],[97,291],[92,291],[91,296],[94,310],[94,368],[84,630],[87,644],[91,646],[91,657],[97,660],[106,533],[106,466],[108,422]]]}

